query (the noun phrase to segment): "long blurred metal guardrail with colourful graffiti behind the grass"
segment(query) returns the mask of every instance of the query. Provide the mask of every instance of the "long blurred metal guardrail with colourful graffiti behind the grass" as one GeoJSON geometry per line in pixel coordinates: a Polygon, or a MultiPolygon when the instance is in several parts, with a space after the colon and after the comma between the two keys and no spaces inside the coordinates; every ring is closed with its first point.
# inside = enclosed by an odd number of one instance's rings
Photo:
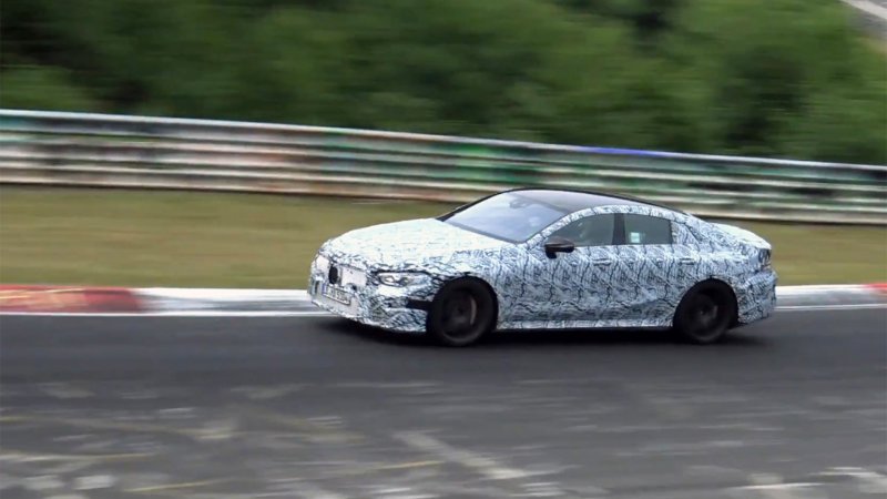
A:
{"type": "Polygon", "coordinates": [[[18,110],[0,110],[0,183],[447,202],[569,186],[702,216],[887,224],[887,165],[18,110]]]}

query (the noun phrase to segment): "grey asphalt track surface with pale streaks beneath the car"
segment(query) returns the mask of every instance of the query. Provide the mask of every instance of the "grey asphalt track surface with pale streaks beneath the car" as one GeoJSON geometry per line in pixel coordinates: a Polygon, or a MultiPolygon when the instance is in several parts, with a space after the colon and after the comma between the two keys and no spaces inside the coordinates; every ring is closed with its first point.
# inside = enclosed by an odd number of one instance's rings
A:
{"type": "Polygon", "coordinates": [[[887,310],[714,347],[318,318],[0,317],[0,497],[874,498],[887,310]]]}

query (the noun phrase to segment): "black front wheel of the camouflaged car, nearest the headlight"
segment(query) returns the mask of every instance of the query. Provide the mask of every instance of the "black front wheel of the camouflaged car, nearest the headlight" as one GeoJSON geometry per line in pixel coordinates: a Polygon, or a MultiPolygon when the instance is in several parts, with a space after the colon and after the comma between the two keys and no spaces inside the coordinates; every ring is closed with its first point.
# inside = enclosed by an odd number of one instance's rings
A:
{"type": "Polygon", "coordinates": [[[443,285],[431,301],[426,330],[449,347],[476,344],[496,325],[496,298],[478,279],[458,278],[443,285]]]}

